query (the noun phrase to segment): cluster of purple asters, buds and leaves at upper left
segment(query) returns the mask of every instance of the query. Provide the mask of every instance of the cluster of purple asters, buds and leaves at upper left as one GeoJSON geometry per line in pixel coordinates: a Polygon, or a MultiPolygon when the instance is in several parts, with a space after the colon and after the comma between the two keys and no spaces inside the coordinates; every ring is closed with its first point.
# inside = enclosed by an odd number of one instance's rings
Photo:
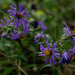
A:
{"type": "Polygon", "coordinates": [[[17,11],[17,6],[14,4],[14,6],[10,6],[12,10],[8,10],[7,12],[9,13],[9,16],[11,19],[7,20],[4,17],[5,22],[1,19],[0,21],[2,24],[0,24],[0,28],[3,34],[2,38],[10,38],[12,40],[17,40],[17,39],[25,39],[26,34],[29,33],[29,21],[25,20],[24,17],[30,17],[28,15],[28,10],[25,8],[23,10],[23,4],[19,3],[19,11],[17,11]],[[9,22],[13,22],[10,24],[9,22]],[[21,26],[20,26],[21,25],[21,26]]]}

